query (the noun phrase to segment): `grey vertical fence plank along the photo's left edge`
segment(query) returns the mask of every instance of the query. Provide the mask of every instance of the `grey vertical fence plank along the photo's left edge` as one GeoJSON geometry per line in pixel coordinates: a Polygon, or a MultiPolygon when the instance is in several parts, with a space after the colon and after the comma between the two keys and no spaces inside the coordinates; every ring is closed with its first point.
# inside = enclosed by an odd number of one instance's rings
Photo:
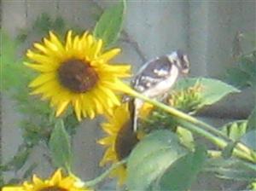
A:
{"type": "MultiPolygon", "coordinates": [[[[26,27],[26,2],[3,0],[1,4],[2,11],[2,29],[7,32],[11,38],[15,38],[20,28],[26,27]]],[[[1,39],[4,40],[4,39],[1,39]]],[[[4,71],[2,71],[4,72],[4,71]]],[[[7,95],[1,94],[1,114],[2,114],[2,161],[6,162],[11,159],[20,143],[22,142],[21,132],[19,129],[20,113],[15,111],[15,102],[10,100],[7,95]]],[[[9,179],[14,177],[13,173],[4,174],[9,179]]]]}

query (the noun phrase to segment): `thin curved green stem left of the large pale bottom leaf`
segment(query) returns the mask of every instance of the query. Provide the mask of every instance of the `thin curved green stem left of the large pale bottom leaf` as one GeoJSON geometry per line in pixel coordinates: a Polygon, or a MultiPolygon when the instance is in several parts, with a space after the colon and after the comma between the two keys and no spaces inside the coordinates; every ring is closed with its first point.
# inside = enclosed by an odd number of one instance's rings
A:
{"type": "Polygon", "coordinates": [[[104,171],[102,175],[99,177],[96,177],[93,180],[84,182],[84,187],[94,187],[99,182],[102,182],[106,177],[108,177],[108,174],[113,171],[114,169],[118,168],[120,165],[124,165],[127,162],[127,159],[123,159],[115,164],[113,164],[107,171],[104,171]]]}

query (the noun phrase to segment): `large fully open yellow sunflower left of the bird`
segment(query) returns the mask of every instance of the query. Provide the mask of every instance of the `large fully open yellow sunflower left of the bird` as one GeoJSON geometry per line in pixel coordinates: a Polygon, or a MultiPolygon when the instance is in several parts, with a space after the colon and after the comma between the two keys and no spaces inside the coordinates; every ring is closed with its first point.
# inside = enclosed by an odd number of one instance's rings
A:
{"type": "Polygon", "coordinates": [[[131,89],[120,78],[130,76],[131,66],[111,65],[109,61],[118,55],[120,49],[102,51],[102,39],[96,39],[88,32],[73,36],[67,32],[65,43],[53,32],[42,43],[34,43],[35,50],[28,49],[26,56],[32,62],[25,62],[40,73],[32,83],[32,95],[42,95],[55,107],[56,116],[73,106],[77,119],[96,114],[111,114],[119,106],[116,92],[131,89]]]}

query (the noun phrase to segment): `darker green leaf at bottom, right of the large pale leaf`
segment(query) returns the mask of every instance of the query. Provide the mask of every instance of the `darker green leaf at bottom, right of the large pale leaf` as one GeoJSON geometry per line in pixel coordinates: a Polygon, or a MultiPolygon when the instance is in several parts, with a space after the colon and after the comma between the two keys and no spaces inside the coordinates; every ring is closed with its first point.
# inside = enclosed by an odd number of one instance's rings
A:
{"type": "Polygon", "coordinates": [[[177,159],[158,181],[156,190],[188,190],[207,159],[206,149],[197,148],[177,159]]]}

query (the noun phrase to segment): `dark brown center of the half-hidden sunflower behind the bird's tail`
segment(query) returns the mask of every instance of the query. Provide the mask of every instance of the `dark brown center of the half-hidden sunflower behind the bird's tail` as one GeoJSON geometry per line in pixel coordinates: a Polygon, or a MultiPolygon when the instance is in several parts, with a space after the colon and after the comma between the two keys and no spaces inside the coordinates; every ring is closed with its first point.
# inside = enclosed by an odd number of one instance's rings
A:
{"type": "Polygon", "coordinates": [[[137,144],[138,139],[136,133],[132,130],[131,120],[127,121],[119,130],[114,147],[119,160],[125,159],[132,148],[137,144]]]}

